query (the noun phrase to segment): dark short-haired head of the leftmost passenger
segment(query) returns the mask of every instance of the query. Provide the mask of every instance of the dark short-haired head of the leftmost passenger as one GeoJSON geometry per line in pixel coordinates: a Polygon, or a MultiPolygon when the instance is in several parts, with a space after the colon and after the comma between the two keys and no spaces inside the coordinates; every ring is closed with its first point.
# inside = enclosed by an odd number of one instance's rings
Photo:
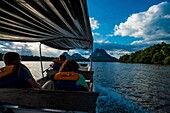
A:
{"type": "Polygon", "coordinates": [[[21,62],[21,56],[16,52],[8,52],[2,56],[6,65],[14,65],[21,62]]]}

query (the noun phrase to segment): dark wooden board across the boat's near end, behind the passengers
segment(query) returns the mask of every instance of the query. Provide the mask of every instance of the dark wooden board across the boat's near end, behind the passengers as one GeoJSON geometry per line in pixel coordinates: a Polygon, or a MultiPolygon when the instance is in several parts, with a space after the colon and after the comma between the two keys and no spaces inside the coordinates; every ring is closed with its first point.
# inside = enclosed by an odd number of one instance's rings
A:
{"type": "Polygon", "coordinates": [[[0,90],[1,105],[16,105],[18,108],[39,110],[57,109],[91,113],[95,111],[97,97],[98,93],[85,91],[11,88],[0,90]]]}

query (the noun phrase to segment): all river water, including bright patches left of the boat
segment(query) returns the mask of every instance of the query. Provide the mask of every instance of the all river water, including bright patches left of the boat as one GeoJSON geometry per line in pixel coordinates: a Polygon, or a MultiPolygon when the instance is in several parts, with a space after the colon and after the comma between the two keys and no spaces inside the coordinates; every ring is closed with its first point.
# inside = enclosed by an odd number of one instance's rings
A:
{"type": "MultiPolygon", "coordinates": [[[[40,62],[22,63],[41,78],[40,62]]],[[[170,113],[170,66],[94,62],[93,70],[98,113],[170,113]]]]}

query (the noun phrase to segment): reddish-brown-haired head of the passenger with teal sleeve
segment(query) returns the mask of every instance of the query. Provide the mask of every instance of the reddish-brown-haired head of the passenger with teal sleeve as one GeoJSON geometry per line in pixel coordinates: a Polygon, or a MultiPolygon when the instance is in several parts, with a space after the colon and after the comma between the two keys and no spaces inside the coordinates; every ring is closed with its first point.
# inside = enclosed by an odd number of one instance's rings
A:
{"type": "Polygon", "coordinates": [[[74,60],[67,60],[65,61],[61,68],[60,72],[70,72],[70,71],[77,71],[79,69],[79,64],[74,60]]]}

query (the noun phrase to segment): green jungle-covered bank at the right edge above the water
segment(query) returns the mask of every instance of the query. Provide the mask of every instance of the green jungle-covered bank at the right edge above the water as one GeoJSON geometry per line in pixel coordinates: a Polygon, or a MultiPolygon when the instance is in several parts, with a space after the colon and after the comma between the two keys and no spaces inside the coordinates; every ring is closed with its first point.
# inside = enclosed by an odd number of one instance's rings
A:
{"type": "Polygon", "coordinates": [[[170,44],[162,42],[144,50],[121,56],[119,61],[124,63],[170,64],[170,44]]]}

